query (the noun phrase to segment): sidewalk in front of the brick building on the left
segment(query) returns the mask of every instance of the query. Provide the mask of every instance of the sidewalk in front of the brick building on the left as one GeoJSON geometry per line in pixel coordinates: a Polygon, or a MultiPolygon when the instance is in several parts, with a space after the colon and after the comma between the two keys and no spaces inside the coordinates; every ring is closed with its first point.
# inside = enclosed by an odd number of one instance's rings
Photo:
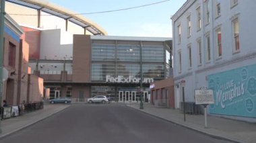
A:
{"type": "Polygon", "coordinates": [[[40,120],[44,120],[46,117],[49,117],[67,107],[69,107],[69,105],[44,105],[43,109],[25,113],[24,115],[12,117],[7,120],[1,120],[2,132],[0,134],[0,138],[3,138],[13,132],[17,132],[18,130],[22,130],[23,128],[35,124],[40,120]]]}

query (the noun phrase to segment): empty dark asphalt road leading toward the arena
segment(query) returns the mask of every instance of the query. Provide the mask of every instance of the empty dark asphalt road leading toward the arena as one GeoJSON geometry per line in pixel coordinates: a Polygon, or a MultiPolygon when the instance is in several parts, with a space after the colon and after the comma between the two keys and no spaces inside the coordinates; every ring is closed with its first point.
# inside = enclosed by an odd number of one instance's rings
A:
{"type": "Polygon", "coordinates": [[[228,142],[177,126],[124,105],[71,105],[0,140],[4,143],[228,142]]]}

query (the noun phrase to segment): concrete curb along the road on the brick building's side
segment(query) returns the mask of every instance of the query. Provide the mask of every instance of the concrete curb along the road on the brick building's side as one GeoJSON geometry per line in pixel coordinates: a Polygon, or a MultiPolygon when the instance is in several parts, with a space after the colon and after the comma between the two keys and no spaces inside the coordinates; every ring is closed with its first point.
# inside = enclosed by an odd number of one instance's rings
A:
{"type": "MultiPolygon", "coordinates": [[[[68,107],[70,107],[70,106],[68,106],[68,107]]],[[[52,116],[52,115],[55,115],[56,113],[59,113],[60,111],[63,111],[63,110],[65,110],[65,109],[67,109],[68,107],[65,107],[65,108],[63,108],[63,109],[61,109],[61,110],[59,110],[59,111],[55,111],[55,112],[53,112],[53,113],[50,113],[49,115],[46,115],[46,116],[44,116],[44,117],[42,117],[42,118],[40,118],[40,119],[38,119],[38,120],[36,120],[36,121],[30,122],[29,124],[26,124],[26,125],[24,125],[24,126],[18,128],[18,129],[12,130],[12,131],[7,132],[7,133],[5,133],[5,134],[1,134],[0,139],[5,138],[5,137],[7,137],[7,136],[10,136],[11,134],[13,134],[13,133],[15,133],[15,132],[18,132],[18,131],[20,131],[20,130],[22,130],[22,129],[24,129],[24,128],[28,128],[29,126],[32,126],[33,124],[36,124],[36,123],[38,123],[38,122],[40,122],[40,121],[42,121],[42,120],[45,120],[47,117],[50,117],[50,116],[52,116]]]]}

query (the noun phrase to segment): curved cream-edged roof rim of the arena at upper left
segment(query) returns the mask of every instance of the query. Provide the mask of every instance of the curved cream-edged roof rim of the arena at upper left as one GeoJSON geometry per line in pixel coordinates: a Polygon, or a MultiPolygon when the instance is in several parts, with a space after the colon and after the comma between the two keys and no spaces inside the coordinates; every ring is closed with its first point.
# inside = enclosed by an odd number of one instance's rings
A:
{"type": "Polygon", "coordinates": [[[107,32],[98,26],[98,24],[94,23],[90,19],[82,15],[77,15],[77,13],[73,11],[69,11],[63,7],[55,5],[53,3],[49,3],[48,1],[40,1],[40,0],[6,0],[10,3],[15,3],[18,5],[23,5],[25,7],[30,7],[32,9],[37,9],[44,11],[46,13],[50,13],[51,15],[55,15],[57,17],[61,17],[63,19],[69,19],[69,21],[81,26],[82,28],[86,28],[89,32],[94,35],[107,35],[107,32]]]}

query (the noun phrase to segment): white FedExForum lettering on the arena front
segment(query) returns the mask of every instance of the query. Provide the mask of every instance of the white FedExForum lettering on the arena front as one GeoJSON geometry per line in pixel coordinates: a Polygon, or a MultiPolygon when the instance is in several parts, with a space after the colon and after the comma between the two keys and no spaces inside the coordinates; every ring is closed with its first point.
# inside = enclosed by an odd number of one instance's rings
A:
{"type": "MultiPolygon", "coordinates": [[[[106,75],[106,83],[139,83],[140,78],[129,76],[123,77],[123,75],[119,75],[117,77],[111,77],[110,75],[106,75]]],[[[142,83],[153,83],[153,78],[144,78],[142,83]]]]}

